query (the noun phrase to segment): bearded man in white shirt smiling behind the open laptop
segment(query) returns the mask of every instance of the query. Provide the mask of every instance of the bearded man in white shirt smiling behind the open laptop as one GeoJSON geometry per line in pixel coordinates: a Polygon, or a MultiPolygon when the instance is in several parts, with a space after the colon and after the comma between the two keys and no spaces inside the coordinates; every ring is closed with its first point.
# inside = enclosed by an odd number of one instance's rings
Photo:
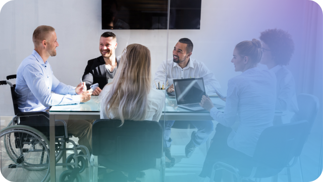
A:
{"type": "MultiPolygon", "coordinates": [[[[188,38],[181,38],[175,45],[173,50],[173,59],[164,61],[155,73],[154,81],[165,82],[167,77],[169,87],[167,92],[174,92],[173,79],[183,78],[197,78],[203,77],[206,92],[214,90],[212,87],[220,87],[218,80],[214,77],[214,74],[204,65],[204,63],[191,58],[193,51],[193,43],[188,38]]],[[[162,121],[164,122],[164,121],[162,121]]],[[[171,157],[170,146],[172,139],[171,127],[174,124],[174,120],[168,120],[165,122],[164,128],[164,147],[166,148],[166,157],[175,162],[175,159],[171,157]]],[[[192,125],[197,128],[197,131],[193,131],[191,135],[191,141],[185,148],[186,157],[190,157],[196,147],[206,142],[209,134],[213,131],[212,121],[190,121],[192,125]]],[[[163,125],[164,123],[162,123],[163,125]]],[[[169,165],[172,167],[172,165],[169,165]]]]}

